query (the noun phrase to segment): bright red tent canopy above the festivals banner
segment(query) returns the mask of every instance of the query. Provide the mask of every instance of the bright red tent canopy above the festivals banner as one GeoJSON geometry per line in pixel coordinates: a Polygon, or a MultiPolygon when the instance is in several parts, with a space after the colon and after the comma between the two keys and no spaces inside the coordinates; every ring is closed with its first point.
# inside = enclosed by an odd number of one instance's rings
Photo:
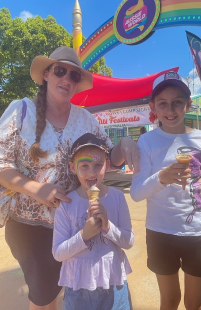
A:
{"type": "Polygon", "coordinates": [[[161,71],[144,78],[120,79],[93,73],[93,88],[75,94],[71,102],[91,113],[148,104],[155,78],[179,67],[161,71]]]}

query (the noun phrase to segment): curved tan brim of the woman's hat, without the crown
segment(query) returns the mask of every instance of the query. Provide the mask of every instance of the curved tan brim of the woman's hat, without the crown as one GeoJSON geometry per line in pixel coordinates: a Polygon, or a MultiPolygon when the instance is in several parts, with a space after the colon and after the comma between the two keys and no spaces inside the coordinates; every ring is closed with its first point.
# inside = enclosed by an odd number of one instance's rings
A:
{"type": "Polygon", "coordinates": [[[36,56],[32,61],[31,68],[30,68],[30,75],[31,78],[39,85],[43,83],[43,74],[45,70],[55,62],[69,64],[72,67],[79,68],[82,79],[79,82],[75,93],[79,93],[81,91],[85,91],[93,87],[93,76],[90,71],[77,66],[74,62],[71,61],[58,61],[55,59],[51,59],[45,56],[36,56]]]}

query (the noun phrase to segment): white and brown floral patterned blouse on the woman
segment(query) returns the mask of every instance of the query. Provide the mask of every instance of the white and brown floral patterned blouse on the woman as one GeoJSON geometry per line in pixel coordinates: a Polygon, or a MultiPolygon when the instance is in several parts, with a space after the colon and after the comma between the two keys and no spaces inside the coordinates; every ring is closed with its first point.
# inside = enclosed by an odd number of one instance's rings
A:
{"type": "MultiPolygon", "coordinates": [[[[22,100],[12,101],[0,119],[0,171],[12,167],[30,179],[51,183],[68,193],[69,189],[78,186],[78,180],[69,167],[73,142],[86,132],[105,139],[109,148],[112,148],[112,142],[93,115],[71,104],[63,132],[46,120],[40,147],[48,151],[48,157],[40,158],[35,163],[29,157],[29,149],[36,139],[36,106],[27,97],[23,100],[26,101],[27,110],[21,130],[22,100]]],[[[42,205],[27,195],[15,193],[11,199],[9,215],[21,223],[53,228],[55,208],[42,205]]]]}

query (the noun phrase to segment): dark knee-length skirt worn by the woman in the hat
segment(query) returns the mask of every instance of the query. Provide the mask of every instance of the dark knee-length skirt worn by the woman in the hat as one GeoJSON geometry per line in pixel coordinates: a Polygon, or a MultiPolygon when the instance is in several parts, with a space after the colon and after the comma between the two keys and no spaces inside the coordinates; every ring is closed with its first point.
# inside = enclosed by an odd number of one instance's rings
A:
{"type": "Polygon", "coordinates": [[[53,229],[21,224],[9,219],[5,239],[18,260],[28,285],[28,298],[37,306],[51,303],[62,289],[58,286],[61,263],[52,255],[53,229]]]}

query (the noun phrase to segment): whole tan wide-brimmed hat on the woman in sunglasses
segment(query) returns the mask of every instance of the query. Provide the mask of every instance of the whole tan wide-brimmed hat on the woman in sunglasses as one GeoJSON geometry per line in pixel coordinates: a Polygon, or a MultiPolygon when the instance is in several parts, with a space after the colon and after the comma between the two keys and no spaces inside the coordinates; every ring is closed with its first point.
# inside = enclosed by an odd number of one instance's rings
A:
{"type": "Polygon", "coordinates": [[[90,71],[82,68],[81,62],[76,54],[76,51],[67,46],[58,47],[49,57],[36,56],[32,61],[30,68],[31,78],[39,85],[43,83],[43,75],[45,70],[55,62],[69,64],[71,67],[79,68],[81,73],[81,81],[79,82],[75,93],[85,91],[93,87],[93,76],[90,71]]]}

